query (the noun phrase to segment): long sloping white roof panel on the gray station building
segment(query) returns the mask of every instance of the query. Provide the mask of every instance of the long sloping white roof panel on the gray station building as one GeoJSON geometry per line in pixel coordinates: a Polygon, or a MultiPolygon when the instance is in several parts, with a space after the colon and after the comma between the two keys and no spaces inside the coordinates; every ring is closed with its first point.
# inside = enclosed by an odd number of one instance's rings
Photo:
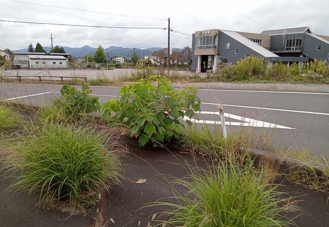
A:
{"type": "Polygon", "coordinates": [[[237,40],[238,42],[242,43],[243,45],[248,46],[249,48],[253,49],[254,51],[258,52],[259,54],[263,55],[265,58],[275,58],[278,57],[275,53],[265,49],[264,47],[254,43],[253,41],[245,38],[244,36],[240,35],[235,31],[228,31],[228,30],[220,30],[224,32],[226,35],[232,37],[233,39],[237,40]]]}

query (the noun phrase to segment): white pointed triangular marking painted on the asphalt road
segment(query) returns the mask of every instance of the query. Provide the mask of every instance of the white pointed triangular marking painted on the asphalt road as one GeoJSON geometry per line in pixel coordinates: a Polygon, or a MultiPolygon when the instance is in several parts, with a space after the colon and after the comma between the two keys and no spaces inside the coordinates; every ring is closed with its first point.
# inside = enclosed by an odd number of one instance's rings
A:
{"type": "MultiPolygon", "coordinates": [[[[219,112],[215,112],[215,111],[198,111],[195,113],[200,113],[200,114],[211,114],[211,115],[220,115],[219,112]]],[[[259,121],[259,120],[255,120],[255,119],[251,119],[251,118],[245,118],[245,117],[241,117],[241,116],[237,116],[237,115],[232,115],[231,113],[226,113],[224,112],[224,116],[227,118],[232,118],[235,120],[239,120],[239,121],[243,121],[243,122],[225,122],[225,125],[232,125],[232,126],[249,126],[249,127],[262,127],[262,128],[276,128],[276,129],[294,129],[294,128],[290,128],[290,127],[286,127],[286,126],[282,126],[282,125],[276,125],[276,124],[272,124],[269,122],[263,122],[263,121],[259,121]]],[[[189,118],[189,117],[184,117],[184,120],[189,120],[192,123],[200,123],[200,124],[212,124],[212,125],[220,125],[221,122],[220,121],[210,121],[210,120],[196,120],[193,118],[189,118]]]]}

